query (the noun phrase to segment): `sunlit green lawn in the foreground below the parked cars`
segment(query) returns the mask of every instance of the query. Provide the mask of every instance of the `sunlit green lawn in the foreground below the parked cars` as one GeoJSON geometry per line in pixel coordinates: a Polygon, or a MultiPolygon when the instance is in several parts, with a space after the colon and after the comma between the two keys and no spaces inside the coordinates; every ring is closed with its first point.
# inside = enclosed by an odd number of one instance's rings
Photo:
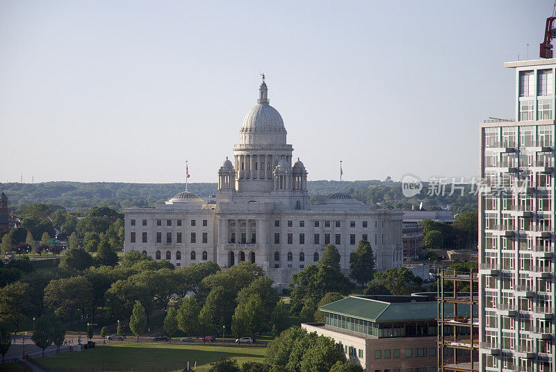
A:
{"type": "Polygon", "coordinates": [[[211,362],[231,357],[243,362],[262,362],[265,346],[192,345],[192,344],[112,344],[97,346],[79,353],[36,359],[51,371],[108,372],[152,371],[175,372],[186,369],[187,362],[196,372],[206,372],[211,362]]]}

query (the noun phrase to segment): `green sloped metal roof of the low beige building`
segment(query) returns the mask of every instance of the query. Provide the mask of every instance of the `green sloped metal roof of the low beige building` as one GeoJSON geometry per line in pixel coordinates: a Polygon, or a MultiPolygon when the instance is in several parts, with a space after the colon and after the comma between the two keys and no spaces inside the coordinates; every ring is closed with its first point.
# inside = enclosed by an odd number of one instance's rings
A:
{"type": "Polygon", "coordinates": [[[331,312],[353,318],[373,321],[419,321],[436,319],[436,302],[388,303],[357,296],[320,306],[322,312],[331,312]]]}

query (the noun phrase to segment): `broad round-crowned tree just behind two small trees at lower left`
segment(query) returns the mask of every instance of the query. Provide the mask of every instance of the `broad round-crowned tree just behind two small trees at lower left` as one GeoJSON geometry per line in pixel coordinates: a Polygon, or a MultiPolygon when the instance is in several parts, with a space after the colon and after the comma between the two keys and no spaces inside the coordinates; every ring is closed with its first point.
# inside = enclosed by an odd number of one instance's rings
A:
{"type": "Polygon", "coordinates": [[[93,291],[91,283],[84,276],[51,280],[44,287],[44,305],[58,316],[73,316],[76,310],[85,312],[90,307],[93,291]]]}

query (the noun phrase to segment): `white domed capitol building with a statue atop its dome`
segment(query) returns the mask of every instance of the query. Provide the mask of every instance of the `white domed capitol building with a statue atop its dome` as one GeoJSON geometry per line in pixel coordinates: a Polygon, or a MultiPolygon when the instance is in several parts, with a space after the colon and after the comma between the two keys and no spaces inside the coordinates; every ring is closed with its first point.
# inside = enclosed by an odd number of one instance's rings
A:
{"type": "Polygon", "coordinates": [[[366,239],[377,270],[402,267],[403,213],[373,210],[344,192],[309,205],[307,171],[293,158],[286,133],[269,104],[263,76],[234,158],[218,169],[216,203],[186,190],[154,208],[127,208],[124,252],[139,251],[177,267],[207,260],[222,268],[253,262],[286,285],[293,273],[316,264],[331,243],[341,253],[342,271],[349,273],[350,254],[366,239]]]}

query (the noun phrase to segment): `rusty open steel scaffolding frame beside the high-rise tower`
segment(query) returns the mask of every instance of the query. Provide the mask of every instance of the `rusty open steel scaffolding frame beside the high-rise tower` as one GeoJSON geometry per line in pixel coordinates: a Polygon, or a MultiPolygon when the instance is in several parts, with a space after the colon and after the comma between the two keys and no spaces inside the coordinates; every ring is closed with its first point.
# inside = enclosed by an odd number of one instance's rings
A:
{"type": "Polygon", "coordinates": [[[479,372],[479,277],[438,272],[439,372],[479,372]]]}

